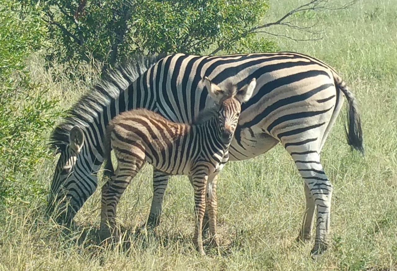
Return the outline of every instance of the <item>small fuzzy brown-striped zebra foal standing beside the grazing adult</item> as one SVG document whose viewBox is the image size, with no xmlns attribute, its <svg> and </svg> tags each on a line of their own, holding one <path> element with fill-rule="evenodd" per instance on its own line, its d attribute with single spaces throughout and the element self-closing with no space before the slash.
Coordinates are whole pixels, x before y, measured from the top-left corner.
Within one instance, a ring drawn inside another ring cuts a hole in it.
<svg viewBox="0 0 397 271">
<path fill-rule="evenodd" d="M 102 236 L 114 231 L 122 193 L 143 164 L 149 162 L 166 174 L 189 176 L 195 193 L 193 241 L 203 255 L 201 228 L 207 206 L 212 244 L 218 246 L 215 177 L 229 158 L 241 103 L 250 99 L 256 80 L 239 90 L 235 85 L 222 90 L 207 77 L 203 81 L 216 106 L 202 111 L 192 124 L 171 122 L 152 111 L 136 109 L 116 116 L 108 125 L 104 139 L 104 176 L 108 181 L 102 187 Z M 112 149 L 118 162 L 116 170 L 110 158 Z"/>
</svg>

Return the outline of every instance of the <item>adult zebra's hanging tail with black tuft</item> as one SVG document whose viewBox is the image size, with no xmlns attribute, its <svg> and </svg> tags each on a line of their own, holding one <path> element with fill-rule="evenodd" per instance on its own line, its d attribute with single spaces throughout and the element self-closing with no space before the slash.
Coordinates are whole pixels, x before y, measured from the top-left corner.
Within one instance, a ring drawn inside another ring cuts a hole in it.
<svg viewBox="0 0 397 271">
<path fill-rule="evenodd" d="M 340 80 L 339 83 L 335 82 L 336 86 L 343 92 L 347 99 L 347 125 L 345 125 L 345 135 L 347 143 L 351 149 L 360 151 L 364 155 L 364 145 L 362 138 L 361 118 L 358 113 L 357 100 L 353 93 L 349 90 L 346 83 Z"/>
</svg>

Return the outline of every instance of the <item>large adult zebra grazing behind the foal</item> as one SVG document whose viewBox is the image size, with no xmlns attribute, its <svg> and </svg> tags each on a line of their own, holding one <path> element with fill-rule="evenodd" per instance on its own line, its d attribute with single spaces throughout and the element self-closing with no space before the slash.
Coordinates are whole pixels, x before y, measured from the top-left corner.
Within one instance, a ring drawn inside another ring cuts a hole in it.
<svg viewBox="0 0 397 271">
<path fill-rule="evenodd" d="M 341 110 L 341 94 L 349 105 L 348 143 L 363 152 L 362 130 L 355 98 L 341 77 L 322 61 L 300 53 L 174 54 L 161 59 L 138 59 L 126 69 L 111 73 L 73 106 L 72 116 L 52 134 L 52 144 L 61 155 L 49 207 L 60 204 L 67 211 L 61 217 L 70 221 L 93 194 L 97 186 L 93 173 L 103 161 L 102 137 L 110 119 L 120 112 L 144 107 L 174 122 L 191 122 L 198 111 L 211 104 L 201 82 L 204 76 L 221 88 L 225 84 L 241 88 L 256 78 L 252 98 L 242 106 L 229 149 L 230 160 L 258 156 L 281 142 L 304 179 L 306 211 L 299 239 L 310 239 L 317 207 L 312 252 L 325 250 L 332 185 L 320 163 L 320 151 Z M 69 147 L 73 140 L 69 131 L 75 125 L 83 129 L 87 139 L 78 154 Z M 158 223 L 168 183 L 168 176 L 162 172 L 154 171 L 153 177 L 149 224 Z"/>
</svg>

